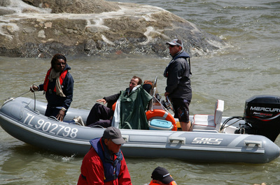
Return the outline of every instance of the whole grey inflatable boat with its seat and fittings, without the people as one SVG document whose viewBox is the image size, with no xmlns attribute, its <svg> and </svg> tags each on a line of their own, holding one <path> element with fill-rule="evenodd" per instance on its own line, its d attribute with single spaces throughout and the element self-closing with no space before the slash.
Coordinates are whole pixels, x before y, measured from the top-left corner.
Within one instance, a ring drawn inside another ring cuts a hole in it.
<svg viewBox="0 0 280 185">
<path fill-rule="evenodd" d="M 120 129 L 126 141 L 121 149 L 126 157 L 267 163 L 278 158 L 280 152 L 280 148 L 274 143 L 276 133 L 279 134 L 279 130 L 275 132 L 279 129 L 279 124 L 278 121 L 271 123 L 279 117 L 280 106 L 279 102 L 267 105 L 267 99 L 275 102 L 280 98 L 258 96 L 247 100 L 248 112 L 243 119 L 222 117 L 223 101 L 218 100 L 213 115 L 195 114 L 190 117 L 193 126 L 192 131 L 188 132 L 174 129 L 176 123 L 166 126 L 172 121 L 168 121 L 164 114 L 156 114 L 156 117 L 149 117 L 150 130 Z M 266 105 L 262 105 L 262 102 Z M 89 141 L 103 135 L 105 128 L 66 122 L 77 116 L 85 121 L 90 110 L 69 108 L 62 122 L 45 117 L 45 108 L 46 103 L 31 98 L 10 98 L 0 109 L 1 127 L 14 138 L 29 145 L 66 155 L 85 155 L 90 149 Z M 155 106 L 150 111 L 156 110 Z M 261 127 L 262 122 L 267 125 L 265 128 Z M 272 129 L 268 130 L 266 127 Z M 274 132 L 272 135 L 271 130 Z"/>
</svg>

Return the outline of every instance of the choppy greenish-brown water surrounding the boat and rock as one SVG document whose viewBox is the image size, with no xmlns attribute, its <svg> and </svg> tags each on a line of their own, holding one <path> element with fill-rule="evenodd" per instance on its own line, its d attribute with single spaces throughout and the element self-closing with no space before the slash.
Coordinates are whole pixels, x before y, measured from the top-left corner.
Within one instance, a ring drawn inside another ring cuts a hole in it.
<svg viewBox="0 0 280 185">
<path fill-rule="evenodd" d="M 214 112 L 217 98 L 225 101 L 224 114 L 242 116 L 247 98 L 279 95 L 280 2 L 279 1 L 140 1 L 159 6 L 220 36 L 232 47 L 192 61 L 193 100 L 190 114 Z M 73 108 L 91 108 L 98 98 L 125 89 L 132 75 L 143 80 L 158 76 L 170 59 L 149 56 L 69 57 L 75 80 Z M 50 59 L 0 57 L 0 103 L 19 96 L 31 84 L 43 82 Z M 32 94 L 25 96 L 33 98 Z M 42 94 L 36 98 L 45 101 Z M 0 184 L 76 184 L 83 158 L 57 156 L 26 145 L 0 128 Z M 280 146 L 279 138 L 276 144 Z M 178 184 L 279 184 L 280 158 L 266 164 L 190 163 L 172 159 L 127 158 L 133 184 L 151 180 L 161 165 Z"/>
</svg>

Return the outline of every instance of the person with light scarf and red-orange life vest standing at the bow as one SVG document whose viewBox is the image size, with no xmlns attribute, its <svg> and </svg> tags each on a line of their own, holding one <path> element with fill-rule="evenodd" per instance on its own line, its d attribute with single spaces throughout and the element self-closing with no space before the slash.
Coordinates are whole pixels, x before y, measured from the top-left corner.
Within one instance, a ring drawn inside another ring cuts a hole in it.
<svg viewBox="0 0 280 185">
<path fill-rule="evenodd" d="M 63 121 L 73 100 L 74 80 L 69 73 L 71 68 L 66 63 L 64 55 L 55 54 L 50 64 L 51 67 L 45 75 L 44 83 L 39 86 L 32 85 L 30 91 L 44 91 L 48 101 L 45 116 L 53 116 Z"/>
</svg>

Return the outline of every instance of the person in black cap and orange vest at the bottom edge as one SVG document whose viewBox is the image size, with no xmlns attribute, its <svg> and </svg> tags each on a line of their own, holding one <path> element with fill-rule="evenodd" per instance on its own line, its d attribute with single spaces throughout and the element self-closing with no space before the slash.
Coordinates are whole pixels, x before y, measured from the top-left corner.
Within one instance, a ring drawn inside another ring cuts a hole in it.
<svg viewBox="0 0 280 185">
<path fill-rule="evenodd" d="M 176 185 L 176 182 L 169 174 L 167 169 L 160 166 L 153 170 L 151 178 L 152 180 L 150 184 L 145 185 Z"/>
</svg>

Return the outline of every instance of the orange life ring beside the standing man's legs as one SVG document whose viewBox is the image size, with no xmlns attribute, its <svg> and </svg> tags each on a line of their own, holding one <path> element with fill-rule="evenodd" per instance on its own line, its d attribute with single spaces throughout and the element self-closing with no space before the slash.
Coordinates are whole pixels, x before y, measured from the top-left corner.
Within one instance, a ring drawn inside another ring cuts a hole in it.
<svg viewBox="0 0 280 185">
<path fill-rule="evenodd" d="M 146 112 L 146 117 L 147 117 L 148 121 L 153 117 L 162 117 L 165 120 L 172 122 L 172 124 L 173 124 L 172 131 L 177 131 L 177 124 L 176 124 L 174 117 L 172 117 L 172 114 L 170 114 L 169 112 L 167 112 L 165 110 L 161 110 L 161 109 L 148 110 Z"/>
</svg>

